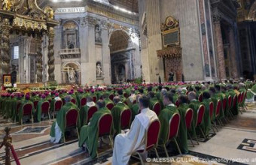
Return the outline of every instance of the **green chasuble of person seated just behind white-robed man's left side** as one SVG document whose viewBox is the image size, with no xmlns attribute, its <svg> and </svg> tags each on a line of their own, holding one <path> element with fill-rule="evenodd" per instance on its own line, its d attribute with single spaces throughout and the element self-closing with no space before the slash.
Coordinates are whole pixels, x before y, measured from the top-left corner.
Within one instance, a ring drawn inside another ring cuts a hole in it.
<svg viewBox="0 0 256 165">
<path fill-rule="evenodd" d="M 129 109 L 129 107 L 126 106 L 126 104 L 123 104 L 122 102 L 119 102 L 111 110 L 111 113 L 113 115 L 114 134 L 121 133 L 120 115 L 121 115 L 123 110 L 127 110 L 127 109 Z"/>
</svg>

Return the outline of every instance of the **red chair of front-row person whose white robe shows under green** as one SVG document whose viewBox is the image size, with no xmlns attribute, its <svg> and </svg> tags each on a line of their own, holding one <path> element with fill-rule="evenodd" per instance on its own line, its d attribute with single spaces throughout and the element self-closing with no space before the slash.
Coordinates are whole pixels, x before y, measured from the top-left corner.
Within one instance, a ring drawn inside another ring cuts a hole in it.
<svg viewBox="0 0 256 165">
<path fill-rule="evenodd" d="M 62 132 L 64 143 L 66 143 L 65 130 L 71 127 L 75 127 L 78 133 L 78 111 L 74 109 L 68 110 L 66 112 L 65 127 L 64 127 L 64 132 Z M 79 133 L 78 133 L 78 139 L 79 139 Z"/>
</svg>

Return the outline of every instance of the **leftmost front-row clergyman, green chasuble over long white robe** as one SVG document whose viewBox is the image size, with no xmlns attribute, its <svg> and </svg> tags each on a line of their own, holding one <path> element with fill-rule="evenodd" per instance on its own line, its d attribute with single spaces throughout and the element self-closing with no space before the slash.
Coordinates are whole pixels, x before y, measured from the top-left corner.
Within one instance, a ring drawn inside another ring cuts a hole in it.
<svg viewBox="0 0 256 165">
<path fill-rule="evenodd" d="M 69 110 L 78 110 L 77 105 L 71 102 L 72 97 L 70 95 L 66 96 L 66 104 L 59 110 L 59 113 L 56 116 L 56 121 L 53 122 L 50 128 L 50 142 L 58 143 L 62 139 L 62 133 L 65 131 L 65 120 L 66 113 Z M 80 123 L 80 118 L 78 116 L 78 125 Z"/>
</svg>

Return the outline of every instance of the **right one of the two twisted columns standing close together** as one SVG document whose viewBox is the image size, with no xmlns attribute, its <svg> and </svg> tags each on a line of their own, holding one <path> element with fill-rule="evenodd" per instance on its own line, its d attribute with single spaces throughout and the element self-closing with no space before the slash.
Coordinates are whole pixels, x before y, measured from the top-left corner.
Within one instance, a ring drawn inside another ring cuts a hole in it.
<svg viewBox="0 0 256 165">
<path fill-rule="evenodd" d="M 53 49 L 53 40 L 54 40 L 54 29 L 52 27 L 49 28 L 48 31 L 48 81 L 55 81 L 54 76 L 54 49 Z"/>
</svg>

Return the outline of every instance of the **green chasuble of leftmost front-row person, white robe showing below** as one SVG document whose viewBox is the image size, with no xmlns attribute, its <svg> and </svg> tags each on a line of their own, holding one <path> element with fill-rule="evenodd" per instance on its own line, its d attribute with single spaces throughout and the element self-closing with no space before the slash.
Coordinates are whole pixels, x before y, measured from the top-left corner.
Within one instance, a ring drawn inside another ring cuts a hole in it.
<svg viewBox="0 0 256 165">
<path fill-rule="evenodd" d="M 72 102 L 66 103 L 61 110 L 59 110 L 59 113 L 56 115 L 56 121 L 53 122 L 51 128 L 50 128 L 50 136 L 55 137 L 55 124 L 57 122 L 59 129 L 62 133 L 65 131 L 65 120 L 66 120 L 66 113 L 69 110 L 77 110 L 78 111 L 78 129 L 80 124 L 80 118 L 79 118 L 79 108 L 77 105 L 73 104 Z M 63 138 L 63 137 L 62 137 Z"/>
</svg>

